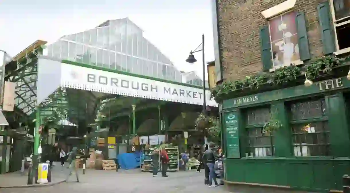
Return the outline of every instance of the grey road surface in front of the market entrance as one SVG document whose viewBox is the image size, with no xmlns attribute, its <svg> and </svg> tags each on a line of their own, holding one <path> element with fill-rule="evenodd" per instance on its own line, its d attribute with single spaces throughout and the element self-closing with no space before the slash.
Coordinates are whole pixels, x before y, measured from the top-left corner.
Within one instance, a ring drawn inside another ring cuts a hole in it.
<svg viewBox="0 0 350 193">
<path fill-rule="evenodd" d="M 140 169 L 128 171 L 86 170 L 79 172 L 80 182 L 72 175 L 68 182 L 45 187 L 5 188 L 1 193 L 228 193 L 223 186 L 209 188 L 204 185 L 204 172 L 168 172 L 169 177 L 152 177 L 152 173 Z"/>
</svg>

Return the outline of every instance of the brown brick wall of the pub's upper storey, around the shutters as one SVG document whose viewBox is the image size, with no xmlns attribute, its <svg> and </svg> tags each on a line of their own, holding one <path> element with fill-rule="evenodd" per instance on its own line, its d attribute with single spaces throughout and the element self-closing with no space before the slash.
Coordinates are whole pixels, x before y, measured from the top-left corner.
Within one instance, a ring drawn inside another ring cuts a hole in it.
<svg viewBox="0 0 350 193">
<path fill-rule="evenodd" d="M 239 80 L 262 69 L 259 28 L 267 24 L 260 12 L 284 0 L 219 0 L 219 38 L 223 76 Z M 322 55 L 317 5 L 324 0 L 297 0 L 296 12 L 304 11 L 312 58 Z"/>
</svg>

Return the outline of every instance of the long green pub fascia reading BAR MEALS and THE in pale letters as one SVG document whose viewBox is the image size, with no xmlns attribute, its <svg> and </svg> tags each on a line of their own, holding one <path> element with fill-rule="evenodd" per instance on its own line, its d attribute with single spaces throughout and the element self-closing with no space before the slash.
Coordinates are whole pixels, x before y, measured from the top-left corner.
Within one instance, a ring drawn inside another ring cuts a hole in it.
<svg viewBox="0 0 350 193">
<path fill-rule="evenodd" d="M 295 87 L 289 87 L 289 88 L 224 100 L 222 106 L 223 106 L 223 109 L 228 109 L 228 108 L 250 106 L 254 104 L 271 102 L 271 101 L 281 100 L 281 99 L 292 100 L 293 98 L 302 97 L 305 95 L 313 95 L 313 94 L 324 93 L 328 91 L 334 91 L 334 90 L 345 89 L 345 88 L 350 88 L 350 81 L 346 79 L 346 76 L 341 78 L 336 78 L 336 79 L 329 79 L 329 80 L 324 80 L 320 82 L 314 82 L 314 84 L 309 87 L 306 87 L 304 85 L 299 85 Z"/>
</svg>

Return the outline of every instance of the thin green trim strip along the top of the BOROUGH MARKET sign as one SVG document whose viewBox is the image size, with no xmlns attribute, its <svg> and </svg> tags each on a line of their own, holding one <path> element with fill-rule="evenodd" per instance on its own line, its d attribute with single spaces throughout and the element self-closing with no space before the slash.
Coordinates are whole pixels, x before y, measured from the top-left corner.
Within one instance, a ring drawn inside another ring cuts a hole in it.
<svg viewBox="0 0 350 193">
<path fill-rule="evenodd" d="M 154 78 L 154 77 L 151 77 L 151 76 L 134 74 L 134 73 L 124 72 L 124 71 L 120 71 L 120 70 L 116 70 L 116 69 L 109 69 L 109 68 L 104 68 L 104 67 L 99 67 L 99 66 L 91 66 L 91 65 L 88 65 L 88 64 L 80 63 L 80 62 L 74 62 L 74 61 L 69 61 L 69 60 L 62 60 L 62 62 L 65 63 L 65 64 L 71 64 L 71 65 L 75 65 L 75 66 L 92 68 L 92 69 L 101 70 L 101 71 L 105 71 L 105 72 L 124 74 L 124 75 L 128 75 L 128 76 L 134 76 L 134 77 L 144 78 L 144 79 L 148 79 L 148 80 L 154 80 L 154 81 L 166 82 L 166 83 L 175 84 L 175 85 L 182 85 L 182 86 L 188 86 L 188 87 L 203 89 L 202 86 L 195 86 L 195 85 L 185 84 L 185 83 L 182 83 L 182 82 L 175 82 L 175 81 L 171 81 L 171 80 L 164 80 L 164 79 L 161 79 L 161 78 Z M 209 88 L 205 88 L 205 89 L 209 90 Z"/>
</svg>

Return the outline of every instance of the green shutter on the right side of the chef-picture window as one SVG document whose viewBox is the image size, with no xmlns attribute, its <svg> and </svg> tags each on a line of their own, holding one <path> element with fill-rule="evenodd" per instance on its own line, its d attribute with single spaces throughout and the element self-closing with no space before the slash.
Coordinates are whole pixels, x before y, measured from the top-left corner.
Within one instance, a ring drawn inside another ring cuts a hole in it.
<svg viewBox="0 0 350 193">
<path fill-rule="evenodd" d="M 296 30 L 298 33 L 298 45 L 300 60 L 308 60 L 311 58 L 309 40 L 307 39 L 307 30 L 305 25 L 305 14 L 304 12 L 296 13 L 295 17 Z"/>
</svg>

